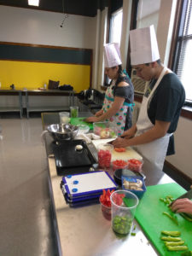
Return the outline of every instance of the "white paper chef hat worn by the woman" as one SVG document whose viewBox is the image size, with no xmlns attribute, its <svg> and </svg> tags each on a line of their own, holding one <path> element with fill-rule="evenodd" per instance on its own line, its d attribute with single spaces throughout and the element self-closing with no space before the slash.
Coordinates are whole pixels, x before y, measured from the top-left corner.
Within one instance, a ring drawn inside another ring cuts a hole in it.
<svg viewBox="0 0 192 256">
<path fill-rule="evenodd" d="M 104 45 L 104 60 L 105 67 L 115 67 L 122 64 L 118 43 L 110 43 Z"/>
</svg>

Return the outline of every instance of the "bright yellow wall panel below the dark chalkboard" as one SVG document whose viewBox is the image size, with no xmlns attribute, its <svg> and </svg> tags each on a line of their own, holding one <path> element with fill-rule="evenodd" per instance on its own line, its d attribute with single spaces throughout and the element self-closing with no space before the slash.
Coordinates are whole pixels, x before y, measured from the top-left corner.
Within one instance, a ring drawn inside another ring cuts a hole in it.
<svg viewBox="0 0 192 256">
<path fill-rule="evenodd" d="M 44 63 L 27 61 L 0 61 L 1 89 L 38 89 L 49 83 L 49 79 L 71 84 L 79 92 L 90 87 L 90 66 L 62 63 Z"/>
</svg>

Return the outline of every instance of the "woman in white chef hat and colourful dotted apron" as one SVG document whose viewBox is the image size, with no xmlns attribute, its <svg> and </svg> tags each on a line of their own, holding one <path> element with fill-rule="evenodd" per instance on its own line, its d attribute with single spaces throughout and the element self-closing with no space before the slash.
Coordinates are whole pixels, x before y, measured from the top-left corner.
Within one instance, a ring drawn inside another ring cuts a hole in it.
<svg viewBox="0 0 192 256">
<path fill-rule="evenodd" d="M 104 53 L 105 73 L 112 81 L 106 90 L 102 109 L 86 121 L 109 121 L 117 136 L 121 136 L 125 129 L 131 127 L 134 89 L 131 80 L 122 71 L 119 45 L 106 44 Z"/>
</svg>

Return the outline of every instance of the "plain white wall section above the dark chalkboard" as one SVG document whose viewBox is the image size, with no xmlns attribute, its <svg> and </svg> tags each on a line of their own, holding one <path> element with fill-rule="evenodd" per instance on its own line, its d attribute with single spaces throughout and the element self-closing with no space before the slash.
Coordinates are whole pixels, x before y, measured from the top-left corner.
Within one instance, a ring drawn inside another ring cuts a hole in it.
<svg viewBox="0 0 192 256">
<path fill-rule="evenodd" d="M 0 41 L 93 49 L 96 18 L 0 6 Z"/>
</svg>

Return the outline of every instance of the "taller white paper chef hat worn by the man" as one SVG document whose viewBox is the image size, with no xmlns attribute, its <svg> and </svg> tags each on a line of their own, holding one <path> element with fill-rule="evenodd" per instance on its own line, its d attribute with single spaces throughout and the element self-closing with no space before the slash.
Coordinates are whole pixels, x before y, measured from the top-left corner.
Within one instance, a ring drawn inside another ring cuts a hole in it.
<svg viewBox="0 0 192 256">
<path fill-rule="evenodd" d="M 131 65 L 150 63 L 160 59 L 154 25 L 131 30 Z"/>
</svg>

